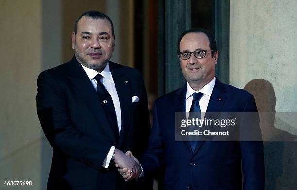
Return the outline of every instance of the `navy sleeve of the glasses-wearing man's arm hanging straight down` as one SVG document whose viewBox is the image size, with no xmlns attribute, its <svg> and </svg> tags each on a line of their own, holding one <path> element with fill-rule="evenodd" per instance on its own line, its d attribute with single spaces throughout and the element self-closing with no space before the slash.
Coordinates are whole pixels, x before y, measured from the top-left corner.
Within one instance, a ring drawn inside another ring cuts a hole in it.
<svg viewBox="0 0 297 190">
<path fill-rule="evenodd" d="M 241 118 L 242 135 L 247 141 L 240 142 L 243 172 L 243 190 L 264 190 L 265 168 L 263 142 L 259 126 L 259 115 L 252 95 L 245 104 Z M 248 125 L 247 125 L 248 124 Z"/>
</svg>

